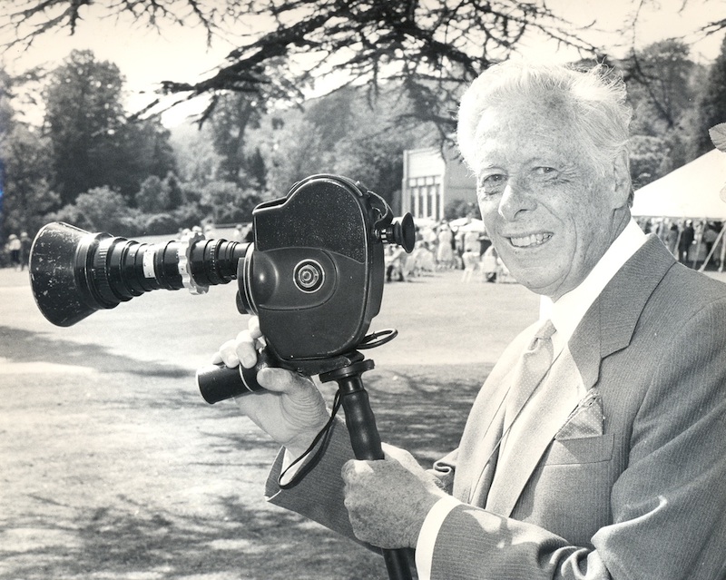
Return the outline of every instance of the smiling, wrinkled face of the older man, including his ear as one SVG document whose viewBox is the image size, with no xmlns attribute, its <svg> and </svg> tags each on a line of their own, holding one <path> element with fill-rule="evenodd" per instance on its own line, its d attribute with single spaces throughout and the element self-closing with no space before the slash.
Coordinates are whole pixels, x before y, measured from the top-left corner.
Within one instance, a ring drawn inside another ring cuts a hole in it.
<svg viewBox="0 0 726 580">
<path fill-rule="evenodd" d="M 553 300 L 584 280 L 629 215 L 627 163 L 598 171 L 585 146 L 558 101 L 490 106 L 476 129 L 486 231 L 515 279 Z"/>
</svg>

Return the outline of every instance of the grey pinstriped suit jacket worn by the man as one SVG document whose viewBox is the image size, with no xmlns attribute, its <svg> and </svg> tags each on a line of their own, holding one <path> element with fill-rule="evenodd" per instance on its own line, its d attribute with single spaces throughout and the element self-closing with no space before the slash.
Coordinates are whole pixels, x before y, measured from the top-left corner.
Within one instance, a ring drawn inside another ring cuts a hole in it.
<svg viewBox="0 0 726 580">
<path fill-rule="evenodd" d="M 726 578 L 726 286 L 651 237 L 544 378 L 540 420 L 495 466 L 507 381 L 533 331 L 505 350 L 435 466 L 465 503 L 439 531 L 432 578 Z M 338 437 L 301 486 L 280 493 L 273 473 L 268 495 L 349 535 L 348 457 Z"/>
</svg>

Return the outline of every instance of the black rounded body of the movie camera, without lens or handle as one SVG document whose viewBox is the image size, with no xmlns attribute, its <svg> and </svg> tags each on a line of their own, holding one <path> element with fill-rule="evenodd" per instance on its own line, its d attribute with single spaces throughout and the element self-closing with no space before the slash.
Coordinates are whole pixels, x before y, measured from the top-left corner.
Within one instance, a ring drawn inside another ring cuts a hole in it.
<svg viewBox="0 0 726 580">
<path fill-rule="evenodd" d="M 260 317 L 277 358 L 334 357 L 365 337 L 383 296 L 379 232 L 390 216 L 381 202 L 345 178 L 312 176 L 253 211 L 239 306 Z"/>
</svg>

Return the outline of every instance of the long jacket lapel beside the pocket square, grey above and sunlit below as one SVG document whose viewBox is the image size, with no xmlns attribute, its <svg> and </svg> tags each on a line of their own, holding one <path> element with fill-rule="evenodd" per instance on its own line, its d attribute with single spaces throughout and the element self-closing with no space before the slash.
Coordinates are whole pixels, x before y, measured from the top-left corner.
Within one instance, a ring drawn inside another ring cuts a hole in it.
<svg viewBox="0 0 726 580">
<path fill-rule="evenodd" d="M 472 491 L 486 498 L 487 509 L 512 513 L 557 431 L 597 383 L 602 359 L 630 343 L 645 303 L 674 262 L 661 241 L 650 236 L 594 301 L 531 400 L 536 420 L 509 434 L 491 487 Z"/>
</svg>

